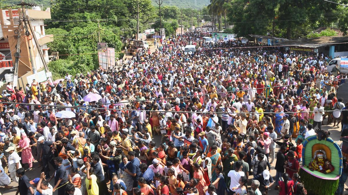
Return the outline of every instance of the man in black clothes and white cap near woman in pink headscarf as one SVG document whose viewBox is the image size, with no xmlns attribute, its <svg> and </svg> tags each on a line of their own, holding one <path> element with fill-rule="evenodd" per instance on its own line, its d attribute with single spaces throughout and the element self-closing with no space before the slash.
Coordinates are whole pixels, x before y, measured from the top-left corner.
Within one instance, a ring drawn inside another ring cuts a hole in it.
<svg viewBox="0 0 348 195">
<path fill-rule="evenodd" d="M 48 179 L 49 178 L 48 163 L 52 164 L 52 166 L 54 168 L 56 168 L 56 165 L 53 161 L 53 153 L 51 152 L 53 142 L 45 141 L 44 136 L 39 137 L 38 142 L 41 144 L 41 153 L 40 153 L 39 161 L 42 162 L 43 169 L 44 169 L 44 172 L 46 175 L 46 179 Z"/>
</svg>

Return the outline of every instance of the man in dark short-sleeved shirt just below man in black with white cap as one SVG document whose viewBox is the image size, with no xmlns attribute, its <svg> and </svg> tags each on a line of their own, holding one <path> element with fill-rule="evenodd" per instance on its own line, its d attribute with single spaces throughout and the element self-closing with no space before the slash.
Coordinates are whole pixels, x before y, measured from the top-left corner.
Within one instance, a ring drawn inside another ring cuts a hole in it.
<svg viewBox="0 0 348 195">
<path fill-rule="evenodd" d="M 54 178 L 54 187 L 53 192 L 58 188 L 58 194 L 65 194 L 65 187 L 62 187 L 68 182 L 68 176 L 66 175 L 65 167 L 62 164 L 63 159 L 62 157 L 58 156 L 54 163 L 56 164 L 57 168 L 56 171 L 53 173 L 51 178 L 48 179 L 48 182 L 50 182 Z"/>
</svg>

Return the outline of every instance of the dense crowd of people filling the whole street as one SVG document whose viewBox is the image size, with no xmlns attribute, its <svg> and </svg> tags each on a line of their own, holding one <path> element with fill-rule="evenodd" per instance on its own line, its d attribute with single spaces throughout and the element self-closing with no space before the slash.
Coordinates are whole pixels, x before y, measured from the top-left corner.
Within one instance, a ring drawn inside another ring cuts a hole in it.
<svg viewBox="0 0 348 195">
<path fill-rule="evenodd" d="M 331 112 L 346 109 L 336 97 L 346 74 L 339 66 L 329 73 L 323 53 L 209 43 L 205 32 L 159 40 L 160 50 L 57 84 L 8 83 L 0 185 L 12 180 L 20 195 L 306 194 L 302 142 L 325 118 L 348 127 L 346 110 Z M 85 101 L 90 93 L 101 99 Z M 64 110 L 76 116 L 57 118 Z"/>
</svg>

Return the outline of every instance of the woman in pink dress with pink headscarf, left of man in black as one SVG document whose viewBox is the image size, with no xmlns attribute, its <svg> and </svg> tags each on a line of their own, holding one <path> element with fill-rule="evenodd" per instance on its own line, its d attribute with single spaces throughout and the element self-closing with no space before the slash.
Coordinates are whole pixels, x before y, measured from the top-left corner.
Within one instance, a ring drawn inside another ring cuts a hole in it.
<svg viewBox="0 0 348 195">
<path fill-rule="evenodd" d="M 31 153 L 30 139 L 26 136 L 25 133 L 21 133 L 21 139 L 19 140 L 17 148 L 21 148 L 18 152 L 22 152 L 22 163 L 29 164 L 27 171 L 32 170 L 34 157 Z"/>
</svg>

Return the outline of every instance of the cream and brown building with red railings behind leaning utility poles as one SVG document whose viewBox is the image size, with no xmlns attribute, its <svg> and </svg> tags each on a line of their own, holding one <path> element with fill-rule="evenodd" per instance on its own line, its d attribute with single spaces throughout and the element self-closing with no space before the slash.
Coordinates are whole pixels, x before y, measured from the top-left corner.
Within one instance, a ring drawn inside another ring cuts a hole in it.
<svg viewBox="0 0 348 195">
<path fill-rule="evenodd" d="M 18 32 L 20 39 L 20 57 L 18 67 L 18 78 L 25 74 L 36 73 L 44 64 L 39 56 L 39 51 L 35 45 L 32 36 L 35 36 L 39 43 L 39 49 L 44 54 L 45 61 L 48 62 L 47 43 L 53 41 L 53 35 L 46 35 L 44 19 L 50 19 L 50 8 L 42 11 L 40 7 L 33 9 L 25 9 L 25 14 L 29 17 L 29 22 L 34 31 L 34 35 L 30 32 L 29 36 L 24 33 L 26 29 L 19 24 L 19 16 L 21 9 L 1 9 L 0 13 L 0 78 L 6 73 L 13 73 L 13 65 L 15 63 L 15 52 L 17 46 Z M 32 56 L 30 56 L 32 53 Z"/>
</svg>

